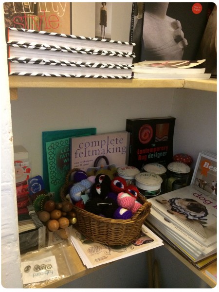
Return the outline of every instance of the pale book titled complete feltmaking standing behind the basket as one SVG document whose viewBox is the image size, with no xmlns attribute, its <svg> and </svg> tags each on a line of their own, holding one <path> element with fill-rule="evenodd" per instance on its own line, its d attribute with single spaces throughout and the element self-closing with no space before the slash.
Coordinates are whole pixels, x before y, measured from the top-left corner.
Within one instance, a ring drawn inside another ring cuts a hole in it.
<svg viewBox="0 0 219 292">
<path fill-rule="evenodd" d="M 73 137 L 71 167 L 87 171 L 88 168 L 97 166 L 94 164 L 99 156 L 106 156 L 109 164 L 115 164 L 117 167 L 127 164 L 129 137 L 127 131 Z"/>
</svg>

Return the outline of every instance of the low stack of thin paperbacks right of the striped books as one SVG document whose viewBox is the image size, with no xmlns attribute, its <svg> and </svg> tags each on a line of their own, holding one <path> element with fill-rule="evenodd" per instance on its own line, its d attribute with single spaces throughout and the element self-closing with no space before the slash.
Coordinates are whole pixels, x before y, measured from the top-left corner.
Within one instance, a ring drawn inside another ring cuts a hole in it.
<svg viewBox="0 0 219 292">
<path fill-rule="evenodd" d="M 142 79 L 209 79 L 211 74 L 205 73 L 204 62 L 205 59 L 197 61 L 142 61 L 134 64 L 133 77 Z"/>
</svg>

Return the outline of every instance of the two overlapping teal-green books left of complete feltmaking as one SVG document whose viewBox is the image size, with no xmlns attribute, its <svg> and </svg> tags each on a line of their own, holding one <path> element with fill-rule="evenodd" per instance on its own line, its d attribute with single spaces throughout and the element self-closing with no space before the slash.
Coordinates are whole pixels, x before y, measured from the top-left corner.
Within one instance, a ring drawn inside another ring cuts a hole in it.
<svg viewBox="0 0 219 292">
<path fill-rule="evenodd" d="M 59 200 L 59 188 L 71 169 L 70 138 L 95 135 L 96 128 L 81 128 L 42 132 L 43 181 L 47 192 L 55 192 Z"/>
</svg>

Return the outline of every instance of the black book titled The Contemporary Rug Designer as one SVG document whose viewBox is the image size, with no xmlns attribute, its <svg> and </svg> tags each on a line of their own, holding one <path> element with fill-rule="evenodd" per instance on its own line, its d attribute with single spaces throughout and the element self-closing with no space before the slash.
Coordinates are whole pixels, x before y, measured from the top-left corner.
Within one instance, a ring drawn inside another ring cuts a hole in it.
<svg viewBox="0 0 219 292">
<path fill-rule="evenodd" d="M 167 166 L 173 157 L 174 117 L 127 119 L 130 132 L 128 165 L 139 170 L 145 164 L 159 163 Z"/>
</svg>

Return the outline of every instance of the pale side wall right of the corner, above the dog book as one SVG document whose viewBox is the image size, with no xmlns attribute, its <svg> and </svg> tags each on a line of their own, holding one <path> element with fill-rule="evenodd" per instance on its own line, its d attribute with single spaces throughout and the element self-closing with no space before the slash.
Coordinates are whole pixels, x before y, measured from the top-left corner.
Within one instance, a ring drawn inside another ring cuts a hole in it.
<svg viewBox="0 0 219 292">
<path fill-rule="evenodd" d="M 194 162 L 199 152 L 217 153 L 217 93 L 177 89 L 171 115 L 175 116 L 174 152 L 187 153 Z"/>
</svg>

